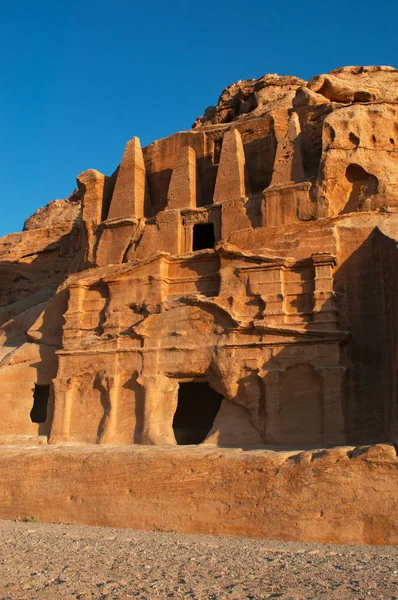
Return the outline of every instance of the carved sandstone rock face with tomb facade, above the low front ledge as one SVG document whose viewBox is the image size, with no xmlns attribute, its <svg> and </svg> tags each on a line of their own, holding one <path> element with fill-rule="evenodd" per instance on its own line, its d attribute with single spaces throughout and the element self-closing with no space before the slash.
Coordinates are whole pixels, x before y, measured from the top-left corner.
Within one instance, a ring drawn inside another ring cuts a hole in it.
<svg viewBox="0 0 398 600">
<path fill-rule="evenodd" d="M 391 67 L 240 81 L 1 239 L 3 439 L 396 441 L 397 98 Z"/>
</svg>

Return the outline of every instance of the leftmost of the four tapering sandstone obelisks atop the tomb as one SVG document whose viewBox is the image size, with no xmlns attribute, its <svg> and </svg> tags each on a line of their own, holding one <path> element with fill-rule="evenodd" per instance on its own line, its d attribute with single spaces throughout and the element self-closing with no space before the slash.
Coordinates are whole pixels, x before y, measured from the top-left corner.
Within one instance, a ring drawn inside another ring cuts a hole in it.
<svg viewBox="0 0 398 600">
<path fill-rule="evenodd" d="M 108 220 L 144 217 L 150 211 L 149 188 L 140 141 L 127 142 L 109 208 Z"/>
</svg>

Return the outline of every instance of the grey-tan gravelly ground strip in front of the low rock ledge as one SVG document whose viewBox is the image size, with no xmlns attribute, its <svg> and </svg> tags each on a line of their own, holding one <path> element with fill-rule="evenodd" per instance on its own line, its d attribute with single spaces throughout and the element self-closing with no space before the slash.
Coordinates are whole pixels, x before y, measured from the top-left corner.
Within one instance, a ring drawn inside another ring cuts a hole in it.
<svg viewBox="0 0 398 600">
<path fill-rule="evenodd" d="M 0 521 L 2 600 L 398 600 L 397 546 Z"/>
</svg>

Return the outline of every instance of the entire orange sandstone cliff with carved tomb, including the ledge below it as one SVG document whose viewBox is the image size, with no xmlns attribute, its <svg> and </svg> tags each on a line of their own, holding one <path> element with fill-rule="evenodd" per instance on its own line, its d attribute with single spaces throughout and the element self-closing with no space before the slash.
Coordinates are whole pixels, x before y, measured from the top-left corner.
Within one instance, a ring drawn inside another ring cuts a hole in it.
<svg viewBox="0 0 398 600">
<path fill-rule="evenodd" d="M 397 543 L 397 148 L 392 67 L 265 75 L 2 238 L 0 515 Z"/>
</svg>

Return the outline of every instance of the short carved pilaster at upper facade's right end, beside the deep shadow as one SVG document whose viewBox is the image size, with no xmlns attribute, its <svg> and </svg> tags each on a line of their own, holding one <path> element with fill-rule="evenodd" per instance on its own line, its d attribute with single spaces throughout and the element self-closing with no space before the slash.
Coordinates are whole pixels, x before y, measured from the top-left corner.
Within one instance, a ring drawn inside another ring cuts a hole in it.
<svg viewBox="0 0 398 600">
<path fill-rule="evenodd" d="M 333 267 L 336 258 L 326 252 L 317 252 L 311 256 L 315 267 L 314 286 L 314 324 L 319 329 L 337 328 L 337 309 L 334 305 Z"/>
</svg>

